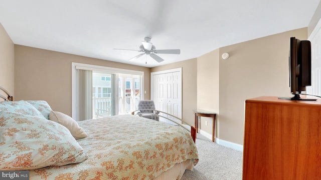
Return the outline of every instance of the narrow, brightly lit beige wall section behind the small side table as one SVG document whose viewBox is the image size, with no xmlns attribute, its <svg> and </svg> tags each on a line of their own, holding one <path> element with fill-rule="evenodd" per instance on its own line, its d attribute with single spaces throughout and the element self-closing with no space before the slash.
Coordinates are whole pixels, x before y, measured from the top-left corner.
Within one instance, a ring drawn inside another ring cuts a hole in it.
<svg viewBox="0 0 321 180">
<path fill-rule="evenodd" d="M 197 108 L 220 113 L 219 109 L 219 49 L 197 58 Z M 212 134 L 212 117 L 200 117 L 200 128 Z M 219 137 L 219 120 L 217 115 L 216 137 Z M 207 121 L 207 125 L 205 123 Z"/>
</svg>

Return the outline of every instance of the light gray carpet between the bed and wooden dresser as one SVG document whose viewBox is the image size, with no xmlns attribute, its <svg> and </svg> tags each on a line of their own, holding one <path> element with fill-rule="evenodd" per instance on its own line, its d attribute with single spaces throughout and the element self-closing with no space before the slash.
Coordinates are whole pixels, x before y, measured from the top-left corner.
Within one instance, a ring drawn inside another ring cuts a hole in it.
<svg viewBox="0 0 321 180">
<path fill-rule="evenodd" d="M 242 179 L 243 152 L 212 142 L 197 134 L 199 162 L 194 170 L 186 170 L 182 180 L 238 180 Z"/>
</svg>

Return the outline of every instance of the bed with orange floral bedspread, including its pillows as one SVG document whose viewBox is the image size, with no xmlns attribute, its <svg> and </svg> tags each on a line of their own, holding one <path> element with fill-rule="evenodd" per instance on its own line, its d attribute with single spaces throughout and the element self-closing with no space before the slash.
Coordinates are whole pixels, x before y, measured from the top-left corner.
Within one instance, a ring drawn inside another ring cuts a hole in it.
<svg viewBox="0 0 321 180">
<path fill-rule="evenodd" d="M 198 163 L 179 125 L 131 114 L 75 122 L 43 100 L 0 102 L 0 132 L 0 170 L 30 179 L 180 179 Z"/>
</svg>

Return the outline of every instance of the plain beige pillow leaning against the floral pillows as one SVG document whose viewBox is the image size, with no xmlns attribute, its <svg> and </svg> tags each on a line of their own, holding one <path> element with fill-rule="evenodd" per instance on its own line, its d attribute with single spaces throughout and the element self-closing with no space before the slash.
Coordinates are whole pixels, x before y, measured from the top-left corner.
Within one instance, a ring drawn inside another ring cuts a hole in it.
<svg viewBox="0 0 321 180">
<path fill-rule="evenodd" d="M 52 110 L 49 114 L 49 120 L 58 122 L 67 127 L 70 133 L 75 137 L 75 139 L 80 139 L 88 136 L 85 130 L 78 125 L 76 120 L 62 112 Z"/>
</svg>

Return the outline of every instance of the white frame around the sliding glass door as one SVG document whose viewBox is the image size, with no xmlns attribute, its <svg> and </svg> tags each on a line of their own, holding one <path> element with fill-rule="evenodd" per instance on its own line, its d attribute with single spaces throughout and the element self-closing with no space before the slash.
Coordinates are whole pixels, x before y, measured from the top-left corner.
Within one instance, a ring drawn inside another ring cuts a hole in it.
<svg viewBox="0 0 321 180">
<path fill-rule="evenodd" d="M 118 73 L 123 74 L 133 74 L 133 75 L 141 75 L 141 84 L 140 89 L 144 91 L 144 71 L 138 70 L 130 70 L 130 69 L 122 69 L 122 68 L 115 68 L 115 67 L 107 67 L 101 65 L 93 65 L 93 64 L 85 64 L 85 63 L 78 63 L 78 62 L 71 62 L 71 116 L 73 118 L 76 117 L 76 69 L 83 69 L 83 70 L 93 70 L 93 71 L 101 71 L 106 73 L 115 74 L 115 94 L 118 96 Z M 141 93 L 141 99 L 144 99 L 144 93 Z M 117 102 L 118 104 L 118 98 Z M 115 105 L 115 111 L 118 112 L 118 105 Z"/>
</svg>

